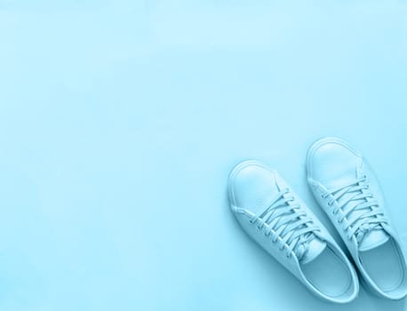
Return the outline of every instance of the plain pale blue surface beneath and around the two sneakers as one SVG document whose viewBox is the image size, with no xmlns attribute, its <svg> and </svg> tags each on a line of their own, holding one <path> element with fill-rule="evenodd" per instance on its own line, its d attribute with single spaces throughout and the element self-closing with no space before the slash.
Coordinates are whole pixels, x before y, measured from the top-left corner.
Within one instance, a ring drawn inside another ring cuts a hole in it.
<svg viewBox="0 0 407 311">
<path fill-rule="evenodd" d="M 227 174 L 306 203 L 335 135 L 407 240 L 405 1 L 0 1 L 2 310 L 406 310 L 324 303 L 238 227 Z M 331 228 L 331 227 L 330 227 Z M 338 235 L 334 235 L 338 237 Z"/>
</svg>

